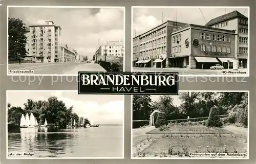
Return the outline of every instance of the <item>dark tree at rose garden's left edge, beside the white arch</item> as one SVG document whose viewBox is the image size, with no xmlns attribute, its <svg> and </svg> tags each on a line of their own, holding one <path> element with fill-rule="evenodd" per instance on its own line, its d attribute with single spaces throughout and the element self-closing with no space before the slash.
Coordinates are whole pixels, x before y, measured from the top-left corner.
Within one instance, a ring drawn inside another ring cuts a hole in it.
<svg viewBox="0 0 256 164">
<path fill-rule="evenodd" d="M 150 95 L 133 95 L 133 120 L 150 120 L 151 102 Z"/>
</svg>

